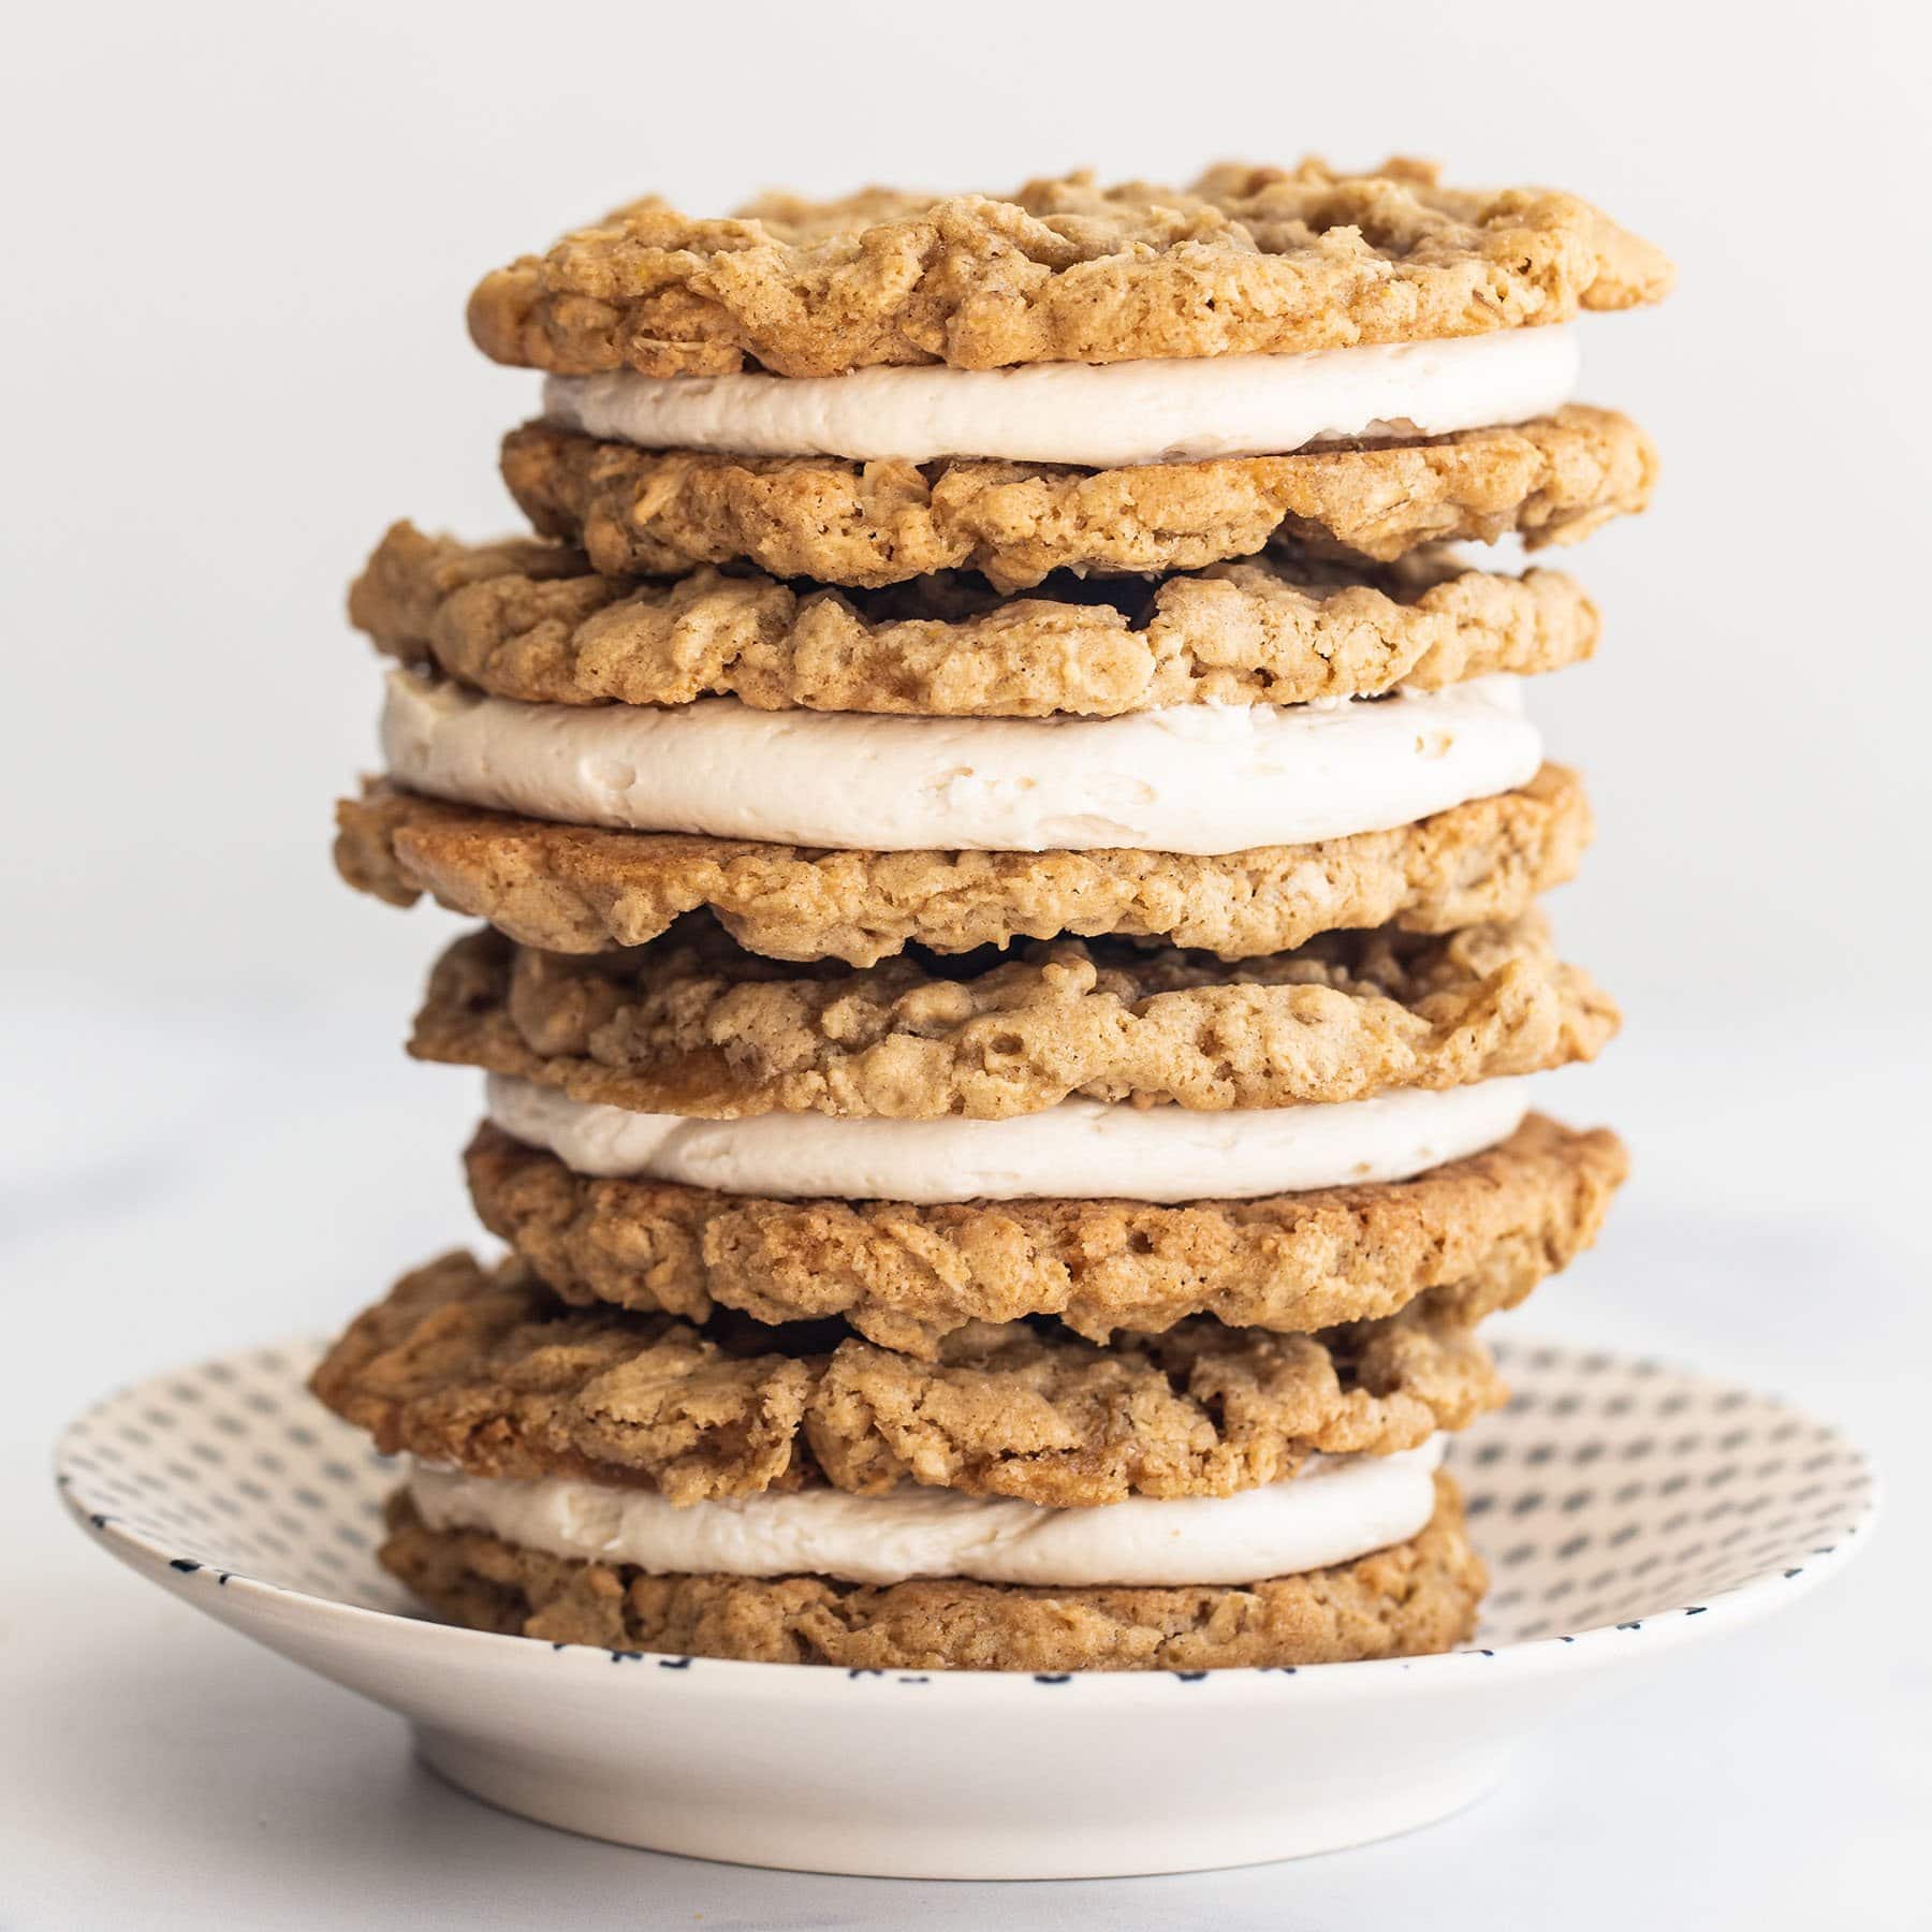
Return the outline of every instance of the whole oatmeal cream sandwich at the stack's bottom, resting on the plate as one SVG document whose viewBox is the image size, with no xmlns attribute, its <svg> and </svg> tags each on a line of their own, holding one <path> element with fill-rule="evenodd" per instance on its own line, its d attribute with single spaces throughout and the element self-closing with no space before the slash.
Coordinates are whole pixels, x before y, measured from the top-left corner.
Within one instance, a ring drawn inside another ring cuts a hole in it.
<svg viewBox="0 0 1932 1932">
<path fill-rule="evenodd" d="M 315 1389 L 410 1453 L 383 1561 L 458 1621 L 1005 1669 L 1447 1648 L 1482 1569 L 1441 1432 L 1503 1395 L 1420 1310 L 1111 1349 L 980 1323 L 914 1362 L 840 1323 L 570 1312 L 466 1256 L 363 1314 Z"/>
</svg>

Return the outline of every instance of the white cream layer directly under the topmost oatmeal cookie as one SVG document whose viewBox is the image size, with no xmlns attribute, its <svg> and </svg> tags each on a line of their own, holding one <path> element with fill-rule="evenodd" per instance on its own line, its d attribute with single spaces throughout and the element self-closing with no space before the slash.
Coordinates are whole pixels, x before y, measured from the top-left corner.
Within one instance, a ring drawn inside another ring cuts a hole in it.
<svg viewBox="0 0 1932 1932">
<path fill-rule="evenodd" d="M 549 421 L 649 450 L 1124 464 L 1273 456 L 1335 437 L 1520 423 L 1577 392 L 1573 328 L 1443 342 L 835 377 L 551 377 Z"/>
</svg>

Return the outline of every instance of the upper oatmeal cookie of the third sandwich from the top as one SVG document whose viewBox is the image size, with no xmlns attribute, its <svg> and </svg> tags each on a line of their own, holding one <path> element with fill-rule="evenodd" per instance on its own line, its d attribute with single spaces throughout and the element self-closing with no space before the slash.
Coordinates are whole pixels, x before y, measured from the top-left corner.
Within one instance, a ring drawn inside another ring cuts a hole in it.
<svg viewBox="0 0 1932 1932">
<path fill-rule="evenodd" d="M 1074 1095 L 1215 1113 L 1441 1092 L 1594 1059 L 1615 1028 L 1534 910 L 1242 962 L 1059 939 L 866 968 L 781 964 L 697 916 L 632 952 L 469 933 L 410 1051 L 634 1113 L 1001 1121 Z"/>
</svg>

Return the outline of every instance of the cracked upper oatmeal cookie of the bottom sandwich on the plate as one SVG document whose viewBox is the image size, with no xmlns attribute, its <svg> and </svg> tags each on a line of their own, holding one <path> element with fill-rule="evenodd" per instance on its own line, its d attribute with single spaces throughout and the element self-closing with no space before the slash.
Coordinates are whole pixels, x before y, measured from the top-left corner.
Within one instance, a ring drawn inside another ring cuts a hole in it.
<svg viewBox="0 0 1932 1932">
<path fill-rule="evenodd" d="M 974 1323 L 920 1362 L 844 1323 L 560 1304 L 520 1262 L 448 1254 L 323 1358 L 313 1391 L 475 1476 L 583 1476 L 674 1503 L 902 1482 L 1051 1507 L 1231 1495 L 1316 1453 L 1389 1455 L 1507 1395 L 1464 1323 L 1405 1310 L 1321 1335 L 1180 1323 L 1101 1349 L 1053 1323 Z"/>
</svg>

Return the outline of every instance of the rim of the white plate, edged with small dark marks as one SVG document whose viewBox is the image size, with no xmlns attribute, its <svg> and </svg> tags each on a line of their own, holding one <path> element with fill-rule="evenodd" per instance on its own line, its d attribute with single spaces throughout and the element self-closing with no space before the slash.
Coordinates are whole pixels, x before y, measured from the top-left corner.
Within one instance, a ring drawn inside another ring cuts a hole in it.
<svg viewBox="0 0 1932 1932">
<path fill-rule="evenodd" d="M 60 1501 L 75 1524 L 100 1542 L 110 1555 L 129 1569 L 151 1575 L 172 1594 L 185 1596 L 193 1588 L 234 1590 L 243 1600 L 261 1598 L 284 1621 L 305 1627 L 348 1621 L 352 1629 L 369 1634 L 386 1634 L 392 1642 L 417 1646 L 489 1646 L 502 1654 L 504 1662 L 522 1658 L 526 1667 L 537 1660 L 551 1660 L 566 1669 L 609 1671 L 612 1663 L 655 1665 L 649 1681 L 665 1683 L 659 1673 L 668 1673 L 676 1683 L 703 1679 L 707 1690 L 738 1692 L 744 1696 L 769 1698 L 781 1694 L 817 1696 L 835 1687 L 918 1687 L 935 1690 L 941 1696 L 983 1696 L 989 1690 L 999 1696 L 1032 1694 L 1036 1689 L 1080 1689 L 1095 1694 L 1094 1687 L 1103 1687 L 1099 1694 L 1115 1702 L 1134 1702 L 1151 1696 L 1171 1694 L 1171 1687 L 1180 1683 L 1190 1690 L 1208 1696 L 1242 1694 L 1252 1696 L 1260 1679 L 1277 1683 L 1293 1679 L 1298 1696 L 1308 1694 L 1349 1694 L 1350 1689 L 1370 1690 L 1379 1685 L 1393 1685 L 1397 1679 L 1422 1681 L 1424 1685 L 1455 1683 L 1453 1673 L 1466 1673 L 1472 1667 L 1501 1669 L 1511 1677 L 1534 1677 L 1569 1663 L 1609 1663 L 1633 1656 L 1638 1648 L 1646 1656 L 1662 1654 L 1687 1642 L 1708 1629 L 1739 1629 L 1770 1613 L 1781 1604 L 1793 1604 L 1808 1596 L 1818 1584 L 1835 1577 L 1851 1559 L 1864 1549 L 1880 1517 L 1884 1484 L 1878 1464 L 1855 1435 L 1839 1428 L 1835 1420 L 1826 1420 L 1801 1408 L 1781 1393 L 1754 1389 L 1743 1381 L 1710 1376 L 1702 1370 L 1683 1368 L 1677 1362 L 1654 1354 L 1629 1354 L 1621 1349 L 1567 1343 L 1546 1339 L 1534 1331 L 1528 1335 L 1495 1337 L 1492 1347 L 1499 1366 L 1509 1368 L 1511 1360 L 1528 1356 L 1553 1356 L 1544 1366 L 1555 1368 L 1561 1362 L 1598 1360 L 1613 1364 L 1642 1378 L 1660 1376 L 1689 1381 L 1714 1395 L 1743 1395 L 1752 1403 L 1766 1403 L 1785 1416 L 1808 1424 L 1832 1435 L 1845 1449 L 1864 1474 L 1864 1492 L 1855 1503 L 1847 1503 L 1847 1522 L 1837 1532 L 1835 1542 L 1808 1551 L 1801 1565 L 1785 1571 L 1766 1569 L 1747 1577 L 1725 1590 L 1710 1592 L 1702 1604 L 1671 1605 L 1646 1617 L 1625 1623 L 1600 1623 L 1582 1631 L 1551 1633 L 1548 1636 L 1519 1638 L 1511 1644 L 1463 1646 L 1420 1658 L 1362 1658 L 1347 1663 L 1300 1663 L 1300 1665 L 1229 1665 L 1202 1671 L 981 1671 L 981 1669 L 931 1669 L 931 1671 L 889 1671 L 852 1669 L 840 1663 L 765 1663 L 742 1658 L 694 1658 L 661 1654 L 647 1650 L 605 1650 L 593 1644 L 545 1642 L 541 1638 L 510 1636 L 498 1631 L 469 1631 L 462 1625 L 442 1623 L 427 1615 L 377 1609 L 367 1604 L 344 1604 L 338 1598 L 317 1596 L 294 1584 L 272 1582 L 265 1577 L 251 1577 L 243 1571 L 220 1571 L 193 1557 L 170 1551 L 149 1532 L 135 1528 L 110 1511 L 85 1507 L 75 1493 L 81 1472 L 68 1466 L 75 1434 L 93 1422 L 102 1410 L 141 1395 L 147 1389 L 178 1381 L 214 1364 L 236 1360 L 255 1360 L 265 1356 L 282 1358 L 294 1366 L 309 1350 L 327 1347 L 327 1339 L 296 1335 L 272 1343 L 230 1349 L 222 1354 L 199 1356 L 176 1368 L 158 1370 L 135 1381 L 122 1383 L 97 1397 L 83 1410 L 71 1416 L 54 1439 L 54 1486 Z M 226 1621 L 226 1619 L 222 1619 Z M 1652 1636 L 1650 1644 L 1638 1646 L 1634 1640 Z M 487 1656 L 489 1648 L 477 1650 Z M 1370 1675 L 1374 1673 L 1374 1675 Z M 782 1689 L 781 1689 L 782 1687 Z M 997 1687 L 997 1690 L 995 1690 Z"/>
</svg>

